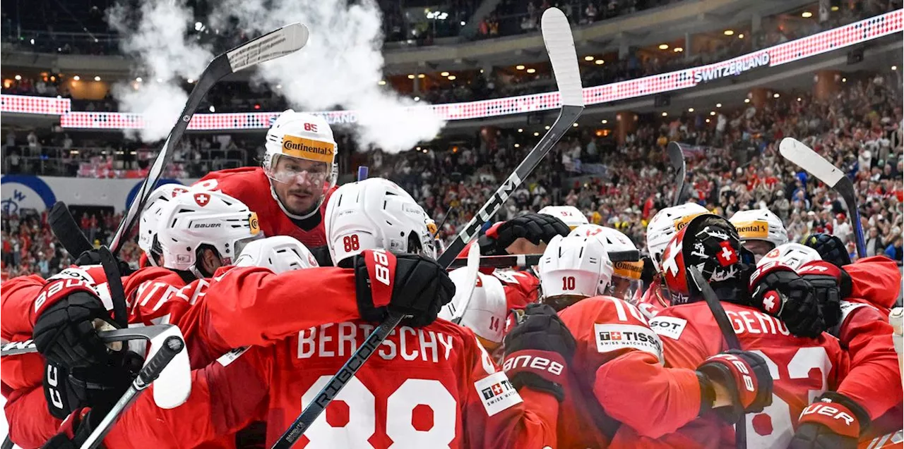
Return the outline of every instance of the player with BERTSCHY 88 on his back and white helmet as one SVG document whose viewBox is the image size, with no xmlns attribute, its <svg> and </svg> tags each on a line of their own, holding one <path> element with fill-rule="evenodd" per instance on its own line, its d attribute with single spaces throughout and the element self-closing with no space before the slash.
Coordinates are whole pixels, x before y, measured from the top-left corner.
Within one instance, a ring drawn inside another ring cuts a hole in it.
<svg viewBox="0 0 904 449">
<path fill-rule="evenodd" d="M 378 245 L 376 248 L 396 251 L 432 252 L 427 215 L 390 181 L 366 179 L 345 185 L 336 190 L 327 211 L 328 242 L 334 260 L 372 280 L 372 300 L 377 304 L 382 302 L 380 298 L 399 289 L 399 281 L 409 279 L 412 283 L 411 278 L 417 278 L 426 288 L 438 277 L 435 271 L 421 269 L 393 278 L 391 272 L 403 268 L 410 256 L 373 249 L 373 245 Z M 229 270 L 222 279 L 230 278 L 237 270 L 244 269 Z M 316 279 L 309 283 L 334 282 L 334 279 L 320 279 L 316 270 L 322 269 L 304 270 L 310 273 L 308 279 Z M 279 277 L 294 273 L 270 274 Z M 265 288 L 283 289 L 284 295 L 288 292 L 277 284 Z M 207 304 L 214 298 L 212 289 L 213 285 L 198 304 Z M 409 293 L 409 296 L 423 295 Z M 335 300 L 328 295 L 311 299 L 319 300 L 322 305 Z M 238 301 L 237 304 L 243 301 L 231 300 Z M 359 303 L 372 304 L 364 298 Z M 318 314 L 320 308 L 328 307 L 299 308 L 303 310 L 298 313 L 289 311 L 291 320 L 286 310 L 280 310 L 270 317 L 268 325 L 258 323 L 257 332 L 273 334 L 271 329 L 288 326 L 289 322 L 309 323 L 297 315 Z M 243 426 L 256 416 L 267 421 L 267 444 L 272 444 L 382 316 L 364 314 L 363 320 L 349 316 L 336 323 L 305 325 L 305 330 L 296 331 L 282 343 L 233 354 L 226 363 L 212 363 L 205 368 L 204 387 L 200 391 L 208 394 L 207 401 L 194 403 L 190 399 L 181 408 L 160 410 L 145 395 L 137 399 L 104 444 L 113 449 L 166 444 L 166 438 L 175 435 L 178 444 L 193 446 L 215 438 L 217 433 L 229 432 L 233 426 Z M 311 447 L 555 445 L 553 426 L 558 411 L 555 396 L 531 386 L 523 387 L 520 392 L 513 389 L 512 382 L 503 372 L 496 371 L 474 334 L 466 328 L 443 320 L 421 328 L 412 326 L 425 324 L 406 320 L 393 331 L 299 444 Z M 227 342 L 235 341 L 229 334 L 219 335 Z M 233 369 L 236 367 L 239 369 Z M 531 373 L 538 369 L 523 371 Z M 258 413 L 259 406 L 266 411 Z M 86 426 L 90 421 L 84 421 Z M 153 426 L 146 424 L 149 422 Z M 79 435 L 80 430 L 84 429 L 76 428 L 72 435 Z"/>
</svg>

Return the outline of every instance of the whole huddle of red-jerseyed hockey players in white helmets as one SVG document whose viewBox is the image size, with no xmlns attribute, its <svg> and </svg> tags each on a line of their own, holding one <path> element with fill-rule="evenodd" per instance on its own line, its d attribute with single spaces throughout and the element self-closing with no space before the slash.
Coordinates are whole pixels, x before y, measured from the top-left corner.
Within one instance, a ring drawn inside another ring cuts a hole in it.
<svg viewBox="0 0 904 449">
<path fill-rule="evenodd" d="M 178 325 L 191 393 L 139 396 L 105 447 L 269 446 L 390 313 L 405 319 L 298 447 L 853 448 L 904 425 L 890 259 L 695 204 L 653 217 L 647 258 L 558 206 L 471 250 L 539 265 L 447 272 L 424 209 L 387 179 L 334 187 L 335 154 L 323 119 L 287 111 L 262 167 L 155 190 L 127 321 Z M 14 444 L 80 447 L 123 394 L 146 348 L 99 338 L 112 303 L 92 252 L 0 284 L 0 339 L 39 351 L 0 358 Z"/>
</svg>

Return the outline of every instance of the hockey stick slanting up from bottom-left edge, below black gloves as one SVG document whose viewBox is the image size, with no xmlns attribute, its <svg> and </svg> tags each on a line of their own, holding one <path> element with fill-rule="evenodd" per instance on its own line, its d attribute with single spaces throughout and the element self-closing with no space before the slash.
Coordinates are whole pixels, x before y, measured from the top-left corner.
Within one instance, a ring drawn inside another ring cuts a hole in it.
<svg viewBox="0 0 904 449">
<path fill-rule="evenodd" d="M 178 330 L 178 327 L 173 327 Z M 126 393 L 123 394 L 113 408 L 110 409 L 107 416 L 100 421 L 98 427 L 91 432 L 91 435 L 88 435 L 88 439 L 85 440 L 85 443 L 81 444 L 81 449 L 94 449 L 100 445 L 104 436 L 107 436 L 110 429 L 113 427 L 113 424 L 116 423 L 119 415 L 121 415 L 122 412 L 138 398 L 138 393 L 157 380 L 157 378 L 160 377 L 161 372 L 165 371 L 166 365 L 172 362 L 177 354 L 184 353 L 185 341 L 181 336 L 168 335 L 165 337 L 163 344 L 159 344 L 158 346 L 159 350 L 148 358 L 148 362 L 146 362 L 145 366 L 138 372 L 138 377 L 132 381 L 132 385 L 128 387 Z M 189 383 L 191 383 L 191 378 L 189 378 Z"/>
</svg>

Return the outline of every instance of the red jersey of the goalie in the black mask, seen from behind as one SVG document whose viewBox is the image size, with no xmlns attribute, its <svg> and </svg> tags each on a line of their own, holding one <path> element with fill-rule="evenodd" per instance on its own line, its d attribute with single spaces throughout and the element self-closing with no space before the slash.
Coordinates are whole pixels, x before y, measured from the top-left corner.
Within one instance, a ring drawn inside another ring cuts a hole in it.
<svg viewBox="0 0 904 449">
<path fill-rule="evenodd" d="M 723 302 L 741 348 L 756 351 L 766 359 L 774 380 L 772 405 L 747 416 L 750 447 L 786 447 L 794 435 L 801 411 L 827 389 L 835 389 L 848 370 L 847 355 L 838 340 L 829 334 L 819 338 L 798 338 L 773 316 L 751 307 Z M 705 302 L 669 307 L 650 326 L 663 339 L 667 366 L 694 369 L 711 355 L 726 349 L 719 326 Z M 646 394 L 625 385 L 623 400 Z M 623 427 L 619 430 L 630 433 Z M 720 435 L 720 438 L 713 438 Z M 653 441 L 638 435 L 623 435 L 626 447 L 734 447 L 734 431 L 718 417 L 707 415 L 693 420 L 677 432 Z"/>
</svg>

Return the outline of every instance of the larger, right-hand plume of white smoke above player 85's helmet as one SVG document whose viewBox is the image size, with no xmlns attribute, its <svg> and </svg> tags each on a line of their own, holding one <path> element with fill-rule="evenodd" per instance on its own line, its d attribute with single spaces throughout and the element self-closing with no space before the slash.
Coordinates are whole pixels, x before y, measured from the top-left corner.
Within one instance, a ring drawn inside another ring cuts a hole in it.
<svg viewBox="0 0 904 449">
<path fill-rule="evenodd" d="M 223 0 L 211 20 L 225 26 L 229 16 L 241 28 L 270 32 L 288 23 L 304 23 L 311 32 L 304 49 L 272 60 L 256 77 L 281 85 L 297 110 L 354 110 L 353 131 L 362 146 L 408 150 L 433 139 L 445 124 L 423 103 L 402 97 L 377 83 L 382 78 L 381 13 L 374 0 Z"/>
</svg>

